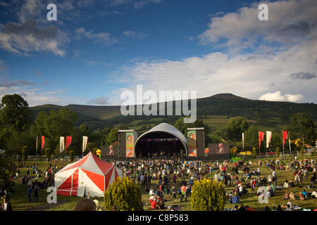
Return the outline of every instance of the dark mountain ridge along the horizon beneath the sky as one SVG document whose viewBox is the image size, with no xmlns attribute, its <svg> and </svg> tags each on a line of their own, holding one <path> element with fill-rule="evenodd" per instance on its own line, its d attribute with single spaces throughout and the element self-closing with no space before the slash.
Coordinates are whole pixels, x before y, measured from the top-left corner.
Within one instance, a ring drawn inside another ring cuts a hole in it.
<svg viewBox="0 0 317 225">
<path fill-rule="evenodd" d="M 189 101 L 190 103 L 190 101 Z M 163 118 L 162 122 L 173 122 L 180 116 L 123 116 L 120 105 L 37 105 L 30 107 L 34 117 L 40 111 L 49 113 L 50 110 L 66 108 L 78 114 L 78 123 L 94 124 L 97 127 L 112 126 L 114 124 L 129 124 L 132 120 L 151 120 L 151 118 Z M 197 117 L 208 119 L 213 115 L 234 117 L 243 116 L 248 120 L 254 120 L 259 124 L 274 123 L 287 124 L 294 113 L 307 113 L 311 119 L 317 121 L 317 105 L 314 103 L 290 103 L 275 101 L 250 100 L 223 93 L 197 99 Z M 273 120 L 274 118 L 274 120 Z"/>
</svg>

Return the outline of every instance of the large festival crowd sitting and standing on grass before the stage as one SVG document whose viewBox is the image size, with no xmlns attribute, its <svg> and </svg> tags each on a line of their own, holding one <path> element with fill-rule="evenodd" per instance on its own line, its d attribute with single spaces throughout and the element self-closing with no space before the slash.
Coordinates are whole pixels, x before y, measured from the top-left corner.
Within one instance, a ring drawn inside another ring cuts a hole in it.
<svg viewBox="0 0 317 225">
<path fill-rule="evenodd" d="M 284 210 L 287 208 L 292 210 L 294 205 L 291 203 L 294 200 L 317 198 L 317 193 L 313 189 L 316 187 L 317 158 L 311 160 L 292 158 L 289 162 L 279 158 L 257 160 L 255 166 L 252 166 L 251 160 L 203 163 L 199 160 L 187 161 L 175 158 L 138 158 L 116 162 L 116 166 L 122 170 L 123 176 L 128 176 L 129 179 L 135 181 L 135 184 L 142 186 L 143 191 L 149 193 L 151 209 L 168 208 L 166 206 L 168 196 L 170 199 L 178 198 L 180 203 L 187 201 L 187 195 L 191 193 L 194 180 L 199 181 L 207 178 L 208 175 L 209 179 L 213 177 L 215 181 L 222 182 L 224 186 L 232 188 L 232 191 L 227 192 L 227 203 L 235 205 L 235 207 L 230 210 L 239 210 L 240 208 L 247 211 L 253 210 L 248 205 L 237 207 L 243 195 L 249 191 L 263 198 L 270 198 L 275 195 L 275 191 L 285 190 L 283 199 L 287 200 L 287 204 L 282 205 Z M 24 171 L 26 169 L 26 174 L 20 174 L 20 168 L 24 168 Z M 54 186 L 54 174 L 62 168 L 56 166 L 56 160 L 54 160 L 54 164 L 50 163 L 43 172 L 38 169 L 37 162 L 33 162 L 32 165 L 25 165 L 25 162 L 18 162 L 18 165 L 13 164 L 11 184 L 6 188 L 0 188 L 0 195 L 3 196 L 1 199 L 4 200 L 1 209 L 12 209 L 9 197 L 14 193 L 16 179 L 25 185 L 27 200 L 32 203 L 38 201 L 40 189 Z M 269 174 L 266 170 L 264 174 L 268 175 L 264 176 L 263 169 L 268 169 Z M 278 180 L 280 170 L 292 172 L 294 181 L 292 179 Z M 41 179 L 42 182 L 37 181 L 41 176 L 44 176 L 44 179 Z M 309 185 L 305 186 L 308 184 L 307 180 L 309 180 Z M 297 195 L 292 191 L 287 191 L 288 188 L 295 186 L 302 187 L 302 191 Z M 313 191 L 307 191 L 311 188 Z M 276 210 L 279 208 L 280 206 Z"/>
</svg>

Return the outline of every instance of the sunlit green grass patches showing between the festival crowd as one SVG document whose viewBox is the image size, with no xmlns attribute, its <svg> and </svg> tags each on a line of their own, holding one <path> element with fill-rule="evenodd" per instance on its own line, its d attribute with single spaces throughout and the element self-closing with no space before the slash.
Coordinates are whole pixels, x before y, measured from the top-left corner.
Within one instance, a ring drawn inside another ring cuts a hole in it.
<svg viewBox="0 0 317 225">
<path fill-rule="evenodd" d="M 300 158 L 299 158 L 300 159 Z M 287 159 L 285 159 L 287 160 Z M 256 161 L 251 160 L 252 165 L 251 169 L 256 169 Z M 29 167 L 32 167 L 32 163 L 35 161 L 27 161 L 26 165 Z M 49 162 L 45 161 L 37 161 L 38 162 L 38 167 L 41 169 L 42 172 L 45 171 L 45 169 L 49 166 Z M 66 162 L 57 162 L 58 167 L 61 167 L 62 165 L 66 165 Z M 232 165 L 230 165 L 230 168 Z M 20 176 L 18 179 L 15 179 L 15 192 L 11 195 L 10 201 L 11 204 L 13 205 L 13 210 L 14 211 L 44 211 L 44 210 L 52 210 L 52 211 L 73 211 L 75 210 L 75 205 L 77 204 L 78 200 L 82 199 L 80 197 L 66 197 L 66 196 L 57 196 L 57 204 L 48 204 L 46 201 L 47 195 L 49 193 L 46 192 L 46 190 L 41 189 L 39 191 L 39 201 L 38 203 L 28 203 L 28 198 L 27 198 L 27 188 L 25 185 L 22 185 L 22 181 L 20 181 L 20 177 L 25 175 L 27 171 L 27 168 L 20 168 Z M 30 169 L 30 174 L 32 175 L 32 168 Z M 268 174 L 270 174 L 271 171 L 269 169 L 266 169 L 266 167 L 261 167 L 261 176 L 267 177 Z M 208 177 L 209 179 L 213 179 L 214 172 L 209 174 Z M 310 185 L 310 175 L 308 176 L 307 179 L 304 179 L 304 186 Z M 278 183 L 277 186 L 282 186 L 284 184 L 284 181 L 287 180 L 293 180 L 294 181 L 294 176 L 292 172 L 286 171 L 286 170 L 278 170 L 277 171 L 277 176 L 278 176 Z M 43 181 L 44 177 L 40 177 L 38 181 Z M 187 180 L 189 177 L 187 177 Z M 243 184 L 243 183 L 242 183 Z M 171 184 L 168 186 L 170 188 Z M 151 182 L 151 187 L 156 190 L 156 181 Z M 180 181 L 176 184 L 176 188 L 180 187 Z M 232 187 L 227 187 L 225 186 L 225 191 L 232 191 Z M 256 188 L 257 190 L 257 188 Z M 266 205 L 270 209 L 273 209 L 273 207 L 277 207 L 278 205 L 285 205 L 287 203 L 286 200 L 283 200 L 282 197 L 285 193 L 284 190 L 280 191 L 275 191 L 275 196 L 268 198 L 268 203 L 259 203 L 258 200 L 258 195 L 256 195 L 254 192 L 251 192 L 251 188 L 247 188 L 248 193 L 242 195 L 242 198 L 240 198 L 240 203 L 238 205 L 244 204 L 244 205 L 249 205 L 252 207 L 254 210 L 263 210 Z M 299 191 L 302 191 L 301 187 L 294 187 L 294 188 L 287 188 L 287 191 L 290 193 L 291 191 L 294 192 L 297 196 L 299 195 Z M 308 188 L 307 192 L 311 192 L 312 189 Z M 150 211 L 149 210 L 149 194 L 142 190 L 142 201 L 143 203 L 147 203 L 147 205 L 144 205 L 144 210 L 145 211 Z M 190 205 L 190 200 L 191 196 L 190 194 L 187 196 L 187 202 L 182 202 L 180 203 L 180 195 L 177 196 L 176 200 L 171 200 L 171 195 L 166 195 L 166 205 L 177 205 L 181 207 L 180 211 L 191 211 L 191 205 Z M 104 199 L 99 198 L 101 205 L 103 205 Z M 317 207 L 317 198 L 309 198 L 308 200 L 300 201 L 300 200 L 294 200 L 293 201 L 294 205 L 298 205 L 302 209 L 315 209 Z M 232 204 L 226 204 L 225 208 L 231 209 L 235 205 Z"/>
</svg>

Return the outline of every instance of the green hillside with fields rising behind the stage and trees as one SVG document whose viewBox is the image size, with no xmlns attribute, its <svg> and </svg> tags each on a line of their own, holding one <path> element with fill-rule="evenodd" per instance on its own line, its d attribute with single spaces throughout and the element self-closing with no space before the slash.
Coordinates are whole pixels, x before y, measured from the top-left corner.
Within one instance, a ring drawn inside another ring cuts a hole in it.
<svg viewBox="0 0 317 225">
<path fill-rule="evenodd" d="M 60 108 L 75 111 L 78 114 L 77 124 L 85 123 L 92 130 L 126 125 L 130 129 L 143 132 L 161 122 L 173 124 L 180 118 L 167 115 L 123 116 L 120 113 L 120 105 L 38 105 L 30 109 L 37 115 L 42 110 L 49 113 L 50 110 Z M 317 105 L 313 103 L 258 101 L 233 94 L 216 94 L 197 99 L 197 117 L 208 124 L 211 131 L 225 128 L 229 118 L 235 116 L 245 117 L 250 124 L 255 124 L 259 129 L 284 129 L 289 124 L 290 117 L 298 112 L 307 113 L 315 123 L 317 122 Z"/>
</svg>

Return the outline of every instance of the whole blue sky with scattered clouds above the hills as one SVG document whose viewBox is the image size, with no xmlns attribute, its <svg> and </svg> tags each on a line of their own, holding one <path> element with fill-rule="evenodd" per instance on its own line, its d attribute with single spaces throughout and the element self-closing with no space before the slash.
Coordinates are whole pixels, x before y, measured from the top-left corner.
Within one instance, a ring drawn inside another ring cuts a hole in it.
<svg viewBox="0 0 317 225">
<path fill-rule="evenodd" d="M 48 4 L 57 20 L 48 21 Z M 260 21 L 259 4 L 268 6 Z M 317 103 L 317 1 L 0 0 L 0 97 L 120 105 L 124 90 Z"/>
</svg>

